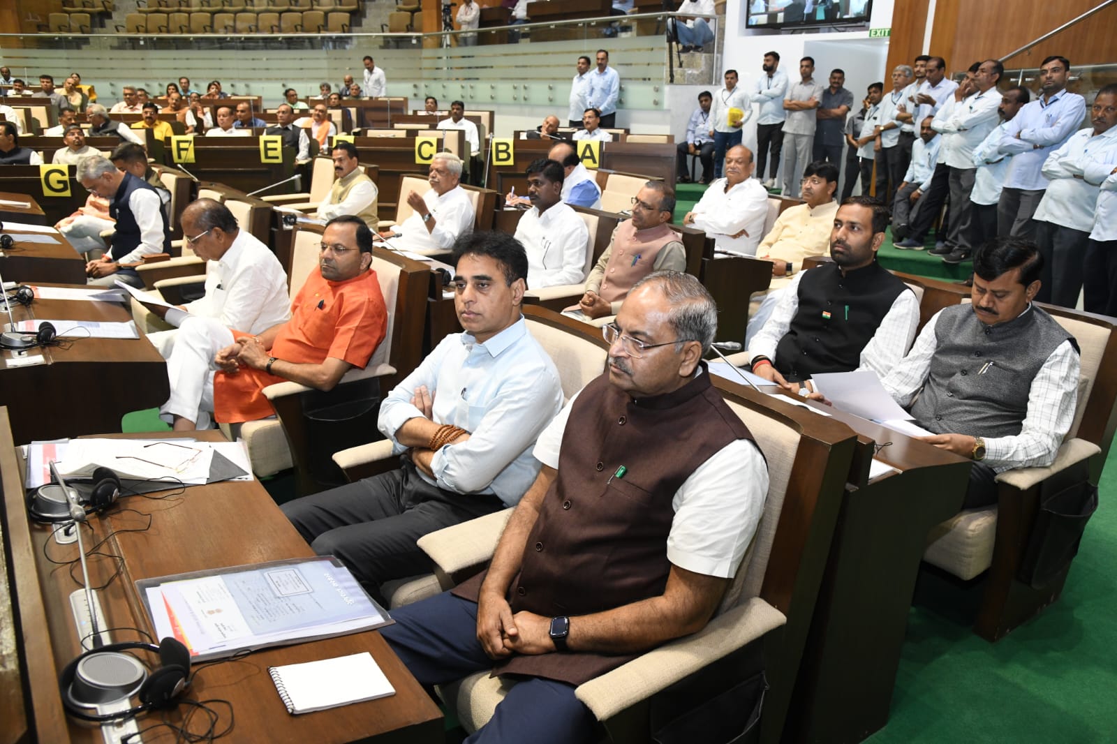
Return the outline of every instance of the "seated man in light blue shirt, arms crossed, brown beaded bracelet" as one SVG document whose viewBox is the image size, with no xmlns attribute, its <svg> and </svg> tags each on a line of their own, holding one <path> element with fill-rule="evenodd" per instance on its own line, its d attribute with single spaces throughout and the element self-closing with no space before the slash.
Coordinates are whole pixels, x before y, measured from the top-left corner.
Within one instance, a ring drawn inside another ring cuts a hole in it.
<svg viewBox="0 0 1117 744">
<path fill-rule="evenodd" d="M 381 584 L 430 571 L 416 541 L 514 506 L 540 471 L 532 447 L 562 408 L 551 357 L 521 315 L 527 256 L 502 232 L 454 246 L 448 335 L 380 407 L 402 467 L 284 504 L 319 555 L 336 555 L 383 602 Z"/>
</svg>

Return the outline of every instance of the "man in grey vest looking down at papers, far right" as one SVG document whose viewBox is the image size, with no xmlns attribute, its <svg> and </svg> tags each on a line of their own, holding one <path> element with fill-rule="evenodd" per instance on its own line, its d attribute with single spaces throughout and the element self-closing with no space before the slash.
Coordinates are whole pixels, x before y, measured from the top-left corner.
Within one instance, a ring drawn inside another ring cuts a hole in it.
<svg viewBox="0 0 1117 744">
<path fill-rule="evenodd" d="M 995 503 L 999 473 L 1050 465 L 1075 418 L 1078 344 L 1032 303 L 1042 268 L 1022 238 L 978 248 L 972 304 L 936 313 L 881 380 L 920 439 L 975 460 L 963 508 Z"/>
</svg>

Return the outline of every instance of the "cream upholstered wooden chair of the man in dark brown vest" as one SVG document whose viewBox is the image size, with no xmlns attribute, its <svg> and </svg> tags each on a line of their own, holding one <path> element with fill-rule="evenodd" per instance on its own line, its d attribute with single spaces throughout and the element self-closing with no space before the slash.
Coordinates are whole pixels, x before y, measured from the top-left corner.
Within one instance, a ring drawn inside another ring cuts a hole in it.
<svg viewBox="0 0 1117 744">
<path fill-rule="evenodd" d="M 703 630 L 575 689 L 604 724 L 609 741 L 646 742 L 653 716 L 663 719 L 665 707 L 679 706 L 679 699 L 705 702 L 731 694 L 744 680 L 762 675 L 765 665 L 772 690 L 764 700 L 764 725 L 772 726 L 776 741 L 794 687 L 853 436 L 843 425 L 834 428 L 836 422 L 812 413 L 792 412 L 790 406 L 754 391 L 720 380 L 716 384 L 726 391 L 729 408 L 748 426 L 767 460 L 764 512 L 717 613 Z M 818 448 L 820 439 L 828 442 L 824 451 Z M 785 511 L 784 505 L 791 508 Z M 440 530 L 421 537 L 419 545 L 439 566 L 439 575 L 469 575 L 491 556 L 500 528 L 495 522 Z M 762 646 L 763 660 L 757 661 Z M 483 671 L 440 686 L 439 694 L 461 725 L 474 732 L 488 722 L 514 684 Z M 680 686 L 687 693 L 680 693 Z"/>
</svg>

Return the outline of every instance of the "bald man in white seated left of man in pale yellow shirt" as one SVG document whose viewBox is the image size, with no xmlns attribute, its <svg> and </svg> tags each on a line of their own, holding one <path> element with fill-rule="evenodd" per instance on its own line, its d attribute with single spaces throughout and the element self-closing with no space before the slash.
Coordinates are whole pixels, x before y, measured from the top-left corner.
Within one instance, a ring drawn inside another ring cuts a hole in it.
<svg viewBox="0 0 1117 744">
<path fill-rule="evenodd" d="M 725 153 L 725 177 L 714 179 L 682 223 L 705 230 L 723 254 L 755 256 L 767 218 L 767 189 L 753 178 L 753 153 L 734 145 Z"/>
</svg>

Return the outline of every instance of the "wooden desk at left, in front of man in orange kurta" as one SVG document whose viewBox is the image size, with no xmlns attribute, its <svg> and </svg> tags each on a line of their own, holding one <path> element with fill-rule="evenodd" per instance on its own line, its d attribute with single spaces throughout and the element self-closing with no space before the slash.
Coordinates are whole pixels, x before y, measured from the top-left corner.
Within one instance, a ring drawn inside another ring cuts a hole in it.
<svg viewBox="0 0 1117 744">
<path fill-rule="evenodd" d="M 85 286 L 85 285 L 82 285 Z M 125 322 L 124 305 L 36 299 L 12 307 L 16 321 Z M 7 406 L 16 443 L 118 431 L 128 411 L 161 406 L 170 394 L 166 364 L 143 335 L 140 338 L 73 338 L 36 350 L 45 364 L 11 366 L 12 352 L 0 352 L 0 406 Z"/>
</svg>

